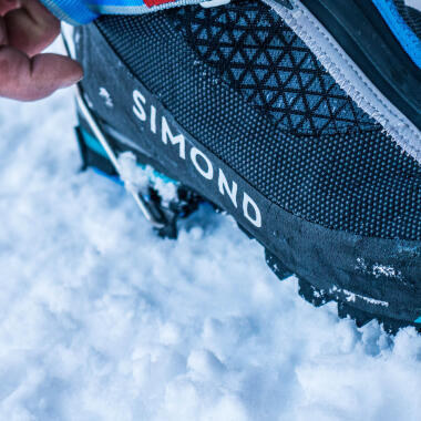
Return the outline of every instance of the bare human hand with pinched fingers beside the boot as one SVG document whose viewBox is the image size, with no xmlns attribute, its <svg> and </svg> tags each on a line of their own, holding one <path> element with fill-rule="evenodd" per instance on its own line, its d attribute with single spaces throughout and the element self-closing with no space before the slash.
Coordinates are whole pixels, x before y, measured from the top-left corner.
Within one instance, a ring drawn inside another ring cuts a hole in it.
<svg viewBox="0 0 421 421">
<path fill-rule="evenodd" d="M 38 0 L 0 0 L 0 96 L 34 101 L 83 76 L 68 57 L 41 52 L 60 34 L 60 21 Z"/>
</svg>

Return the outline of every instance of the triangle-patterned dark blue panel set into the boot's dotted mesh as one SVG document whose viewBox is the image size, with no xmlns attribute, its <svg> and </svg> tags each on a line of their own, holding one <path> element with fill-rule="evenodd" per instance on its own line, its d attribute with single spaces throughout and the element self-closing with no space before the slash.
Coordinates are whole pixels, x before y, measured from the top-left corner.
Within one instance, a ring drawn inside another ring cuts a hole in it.
<svg viewBox="0 0 421 421">
<path fill-rule="evenodd" d="M 172 16 L 199 59 L 277 124 L 315 134 L 374 125 L 280 17 L 259 2 L 179 8 Z"/>
</svg>

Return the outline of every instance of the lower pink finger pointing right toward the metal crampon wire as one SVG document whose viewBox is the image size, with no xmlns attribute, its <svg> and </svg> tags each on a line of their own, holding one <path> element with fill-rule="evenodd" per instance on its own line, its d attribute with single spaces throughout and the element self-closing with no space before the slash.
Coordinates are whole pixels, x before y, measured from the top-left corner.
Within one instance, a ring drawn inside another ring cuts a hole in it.
<svg viewBox="0 0 421 421">
<path fill-rule="evenodd" d="M 0 49 L 0 96 L 35 101 L 82 76 L 81 65 L 68 57 L 39 54 L 30 59 L 11 47 Z"/>
</svg>

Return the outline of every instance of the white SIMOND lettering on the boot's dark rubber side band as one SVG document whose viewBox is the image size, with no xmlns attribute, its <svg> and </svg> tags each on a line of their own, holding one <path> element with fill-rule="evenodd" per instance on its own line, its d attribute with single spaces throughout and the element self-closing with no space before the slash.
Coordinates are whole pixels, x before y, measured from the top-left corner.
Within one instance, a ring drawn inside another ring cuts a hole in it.
<svg viewBox="0 0 421 421">
<path fill-rule="evenodd" d="M 235 181 L 229 183 L 223 170 L 216 168 L 205 153 L 197 147 L 189 145 L 182 133 L 174 134 L 168 125 L 167 119 L 164 115 L 158 119 L 156 107 L 152 104 L 151 106 L 147 106 L 146 97 L 140 91 L 133 91 L 133 101 L 134 115 L 143 123 L 147 123 L 148 120 L 150 131 L 153 134 L 161 135 L 163 144 L 177 146 L 181 160 L 192 164 L 202 177 L 217 183 L 219 194 L 223 196 L 226 194 L 235 208 L 242 206 L 244 217 L 255 227 L 261 227 L 261 213 L 259 207 L 246 192 L 243 192 L 243 195 L 239 195 L 238 185 Z M 150 110 L 148 115 L 146 114 L 146 109 Z M 187 146 L 191 146 L 189 151 L 187 151 Z M 238 203 L 238 196 L 240 198 L 240 204 Z"/>
</svg>

